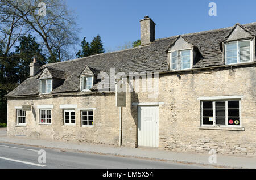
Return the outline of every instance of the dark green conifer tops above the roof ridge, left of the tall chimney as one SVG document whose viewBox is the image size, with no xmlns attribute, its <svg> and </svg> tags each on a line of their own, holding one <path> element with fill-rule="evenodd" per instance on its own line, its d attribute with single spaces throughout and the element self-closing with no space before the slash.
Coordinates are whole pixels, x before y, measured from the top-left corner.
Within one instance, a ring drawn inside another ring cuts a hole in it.
<svg viewBox="0 0 256 180">
<path fill-rule="evenodd" d="M 101 36 L 97 35 L 96 37 L 93 38 L 92 42 L 87 42 L 86 37 L 81 42 L 81 50 L 77 52 L 77 57 L 82 58 L 82 57 L 88 57 L 90 55 L 95 55 L 95 54 L 100 54 L 104 53 L 105 50 L 103 48 L 103 44 L 101 41 Z"/>
</svg>

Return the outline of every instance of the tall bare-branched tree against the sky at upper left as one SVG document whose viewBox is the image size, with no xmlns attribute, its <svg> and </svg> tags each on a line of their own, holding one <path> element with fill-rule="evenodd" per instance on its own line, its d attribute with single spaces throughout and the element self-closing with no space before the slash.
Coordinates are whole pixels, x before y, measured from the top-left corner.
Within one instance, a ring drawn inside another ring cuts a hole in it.
<svg viewBox="0 0 256 180">
<path fill-rule="evenodd" d="M 44 7 L 39 3 L 39 0 L 0 0 L 0 11 L 15 17 L 40 37 L 48 52 L 48 62 L 66 60 L 70 57 L 70 45 L 78 41 L 76 17 L 63 0 L 45 0 L 45 16 L 40 14 Z"/>
</svg>

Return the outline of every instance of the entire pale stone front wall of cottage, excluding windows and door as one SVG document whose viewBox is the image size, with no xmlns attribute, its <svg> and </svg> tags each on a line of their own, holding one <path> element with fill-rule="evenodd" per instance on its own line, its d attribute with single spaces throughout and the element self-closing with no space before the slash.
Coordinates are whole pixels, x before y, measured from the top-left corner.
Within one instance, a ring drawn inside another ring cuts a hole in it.
<svg viewBox="0 0 256 180">
<path fill-rule="evenodd" d="M 163 102 L 159 105 L 159 149 L 203 153 L 214 149 L 217 153 L 256 156 L 255 85 L 254 66 L 160 74 L 157 98 L 148 98 L 149 92 L 126 94 L 122 145 L 137 147 L 137 106 L 132 103 Z M 243 96 L 241 121 L 245 130 L 201 129 L 197 98 L 206 96 Z M 22 104 L 31 104 L 31 98 L 8 100 L 9 136 L 119 144 L 119 108 L 115 107 L 114 93 L 34 98 L 35 112 L 27 112 L 27 126 L 17 127 L 15 106 Z M 52 125 L 39 124 L 37 105 L 43 104 L 54 105 Z M 77 104 L 76 126 L 63 124 L 61 104 Z M 96 108 L 93 127 L 81 127 L 79 108 Z"/>
</svg>

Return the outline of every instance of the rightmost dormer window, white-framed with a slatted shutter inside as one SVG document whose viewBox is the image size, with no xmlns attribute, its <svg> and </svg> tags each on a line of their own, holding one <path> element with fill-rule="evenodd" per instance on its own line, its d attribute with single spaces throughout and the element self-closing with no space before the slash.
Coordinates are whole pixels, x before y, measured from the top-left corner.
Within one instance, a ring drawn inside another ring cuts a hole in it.
<svg viewBox="0 0 256 180">
<path fill-rule="evenodd" d="M 225 44 L 226 49 L 226 64 L 236 64 L 250 62 L 251 57 L 251 42 L 247 41 L 235 41 Z"/>
</svg>

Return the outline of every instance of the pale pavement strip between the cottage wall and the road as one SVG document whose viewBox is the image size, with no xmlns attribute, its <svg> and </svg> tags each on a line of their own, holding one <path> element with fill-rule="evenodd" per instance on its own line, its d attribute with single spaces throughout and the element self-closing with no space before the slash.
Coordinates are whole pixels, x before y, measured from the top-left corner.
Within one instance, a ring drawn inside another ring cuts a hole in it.
<svg viewBox="0 0 256 180">
<path fill-rule="evenodd" d="M 0 128 L 0 134 L 1 131 L 3 132 L 6 130 Z M 216 163 L 211 163 L 209 161 L 209 157 L 211 155 L 203 153 L 172 152 L 159 149 L 117 147 L 113 145 L 65 142 L 57 140 L 36 140 L 24 137 L 7 137 L 6 135 L 0 136 L 0 142 L 30 145 L 32 147 L 40 148 L 62 149 L 64 151 L 76 151 L 100 155 L 113 155 L 118 157 L 205 165 L 217 168 L 256 168 L 256 157 L 240 157 L 217 154 Z"/>
</svg>

